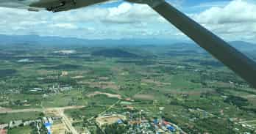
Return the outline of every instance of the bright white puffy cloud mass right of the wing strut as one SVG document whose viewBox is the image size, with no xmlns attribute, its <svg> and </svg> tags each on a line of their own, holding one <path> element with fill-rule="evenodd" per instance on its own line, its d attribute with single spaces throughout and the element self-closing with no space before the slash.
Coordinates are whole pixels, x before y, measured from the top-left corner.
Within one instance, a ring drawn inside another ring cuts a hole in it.
<svg viewBox="0 0 256 134">
<path fill-rule="evenodd" d="M 234 0 L 224 7 L 211 7 L 191 17 L 227 40 L 256 41 L 255 12 L 256 4 Z"/>
</svg>

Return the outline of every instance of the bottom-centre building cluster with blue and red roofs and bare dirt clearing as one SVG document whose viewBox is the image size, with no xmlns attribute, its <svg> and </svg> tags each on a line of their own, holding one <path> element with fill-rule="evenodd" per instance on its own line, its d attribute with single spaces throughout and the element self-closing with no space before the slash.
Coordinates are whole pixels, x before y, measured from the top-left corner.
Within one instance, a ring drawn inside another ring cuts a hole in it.
<svg viewBox="0 0 256 134">
<path fill-rule="evenodd" d="M 127 133 L 185 133 L 176 124 L 164 119 L 147 116 L 144 111 L 126 111 L 124 113 L 105 113 L 96 118 L 96 124 L 102 128 L 107 124 L 117 123 L 128 127 Z M 104 129 L 104 128 L 102 128 Z"/>
</svg>

